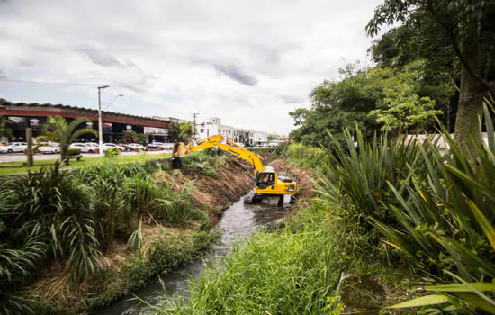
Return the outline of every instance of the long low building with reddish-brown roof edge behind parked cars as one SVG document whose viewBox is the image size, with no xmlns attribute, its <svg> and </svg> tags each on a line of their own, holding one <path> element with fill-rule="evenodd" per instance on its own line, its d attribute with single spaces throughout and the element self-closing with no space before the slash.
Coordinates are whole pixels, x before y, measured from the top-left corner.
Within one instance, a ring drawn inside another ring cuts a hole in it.
<svg viewBox="0 0 495 315">
<path fill-rule="evenodd" d="M 98 132 L 98 111 L 61 104 L 12 103 L 0 98 L 0 116 L 9 121 L 14 131 L 14 141 L 25 140 L 26 128 L 32 129 L 32 136 L 41 135 L 42 125 L 49 117 L 60 116 L 67 121 L 76 118 L 90 120 L 79 129 L 91 128 Z M 103 142 L 121 143 L 123 132 L 133 130 L 148 134 L 149 142 L 173 142 L 168 136 L 171 118 L 143 117 L 119 112 L 102 112 Z M 98 142 L 94 135 L 83 135 L 81 141 Z"/>
</svg>

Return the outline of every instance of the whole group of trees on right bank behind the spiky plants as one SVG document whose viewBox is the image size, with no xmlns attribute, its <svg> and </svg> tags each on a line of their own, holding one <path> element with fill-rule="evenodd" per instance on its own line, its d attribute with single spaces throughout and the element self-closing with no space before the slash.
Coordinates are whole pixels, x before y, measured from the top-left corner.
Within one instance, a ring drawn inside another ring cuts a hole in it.
<svg viewBox="0 0 495 315">
<path fill-rule="evenodd" d="M 356 123 L 374 130 L 434 132 L 436 117 L 466 154 L 481 145 L 482 102 L 495 94 L 495 4 L 482 0 L 385 0 L 366 31 L 401 22 L 369 49 L 375 67 L 349 64 L 340 80 L 311 91 L 311 108 L 291 112 L 291 139 L 329 148 Z M 469 48 L 469 49 L 467 49 Z M 471 139 L 473 136 L 474 141 Z"/>
</svg>

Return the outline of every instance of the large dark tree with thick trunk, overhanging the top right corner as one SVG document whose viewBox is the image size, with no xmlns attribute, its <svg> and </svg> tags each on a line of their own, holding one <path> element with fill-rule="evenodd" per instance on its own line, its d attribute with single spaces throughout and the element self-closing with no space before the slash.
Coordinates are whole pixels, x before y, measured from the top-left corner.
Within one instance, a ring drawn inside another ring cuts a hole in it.
<svg viewBox="0 0 495 315">
<path fill-rule="evenodd" d="M 458 58 L 461 86 L 455 140 L 466 154 L 473 154 L 476 142 L 482 141 L 483 96 L 495 91 L 493 81 L 490 81 L 495 3 L 485 0 L 385 0 L 376 8 L 366 31 L 370 36 L 376 36 L 383 25 L 398 21 L 418 37 L 428 39 L 427 42 L 438 38 L 448 42 Z"/>
</svg>

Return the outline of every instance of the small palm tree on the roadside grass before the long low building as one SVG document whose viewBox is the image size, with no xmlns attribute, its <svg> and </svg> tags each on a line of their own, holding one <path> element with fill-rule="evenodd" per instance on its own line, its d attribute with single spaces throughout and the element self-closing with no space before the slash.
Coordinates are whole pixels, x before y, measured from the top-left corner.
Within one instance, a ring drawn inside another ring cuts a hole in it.
<svg viewBox="0 0 495 315">
<path fill-rule="evenodd" d="M 77 126 L 82 123 L 89 122 L 91 120 L 87 118 L 76 118 L 74 121 L 67 123 L 63 117 L 49 117 L 47 123 L 43 125 L 43 132 L 49 139 L 57 139 L 60 143 L 60 157 L 62 163 L 68 165 L 68 146 L 74 142 L 75 139 L 85 133 L 92 133 L 96 136 L 96 131 L 85 128 L 76 130 Z"/>
</svg>

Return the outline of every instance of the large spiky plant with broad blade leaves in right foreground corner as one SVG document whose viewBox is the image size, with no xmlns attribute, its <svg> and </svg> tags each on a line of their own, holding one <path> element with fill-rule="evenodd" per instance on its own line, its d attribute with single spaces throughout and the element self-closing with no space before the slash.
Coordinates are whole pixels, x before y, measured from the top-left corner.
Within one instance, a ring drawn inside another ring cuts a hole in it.
<svg viewBox="0 0 495 315">
<path fill-rule="evenodd" d="M 388 208 L 399 224 L 374 219 L 403 257 L 435 281 L 448 283 L 426 288 L 442 293 L 437 301 L 450 302 L 446 311 L 467 303 L 473 311 L 495 313 L 495 136 L 486 107 L 484 116 L 488 143 L 477 146 L 475 160 L 442 129 L 447 154 L 431 142 L 432 157 L 421 148 L 428 180 L 411 170 L 411 183 L 389 184 L 399 204 Z M 404 197 L 401 191 L 408 193 Z"/>
</svg>

